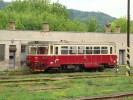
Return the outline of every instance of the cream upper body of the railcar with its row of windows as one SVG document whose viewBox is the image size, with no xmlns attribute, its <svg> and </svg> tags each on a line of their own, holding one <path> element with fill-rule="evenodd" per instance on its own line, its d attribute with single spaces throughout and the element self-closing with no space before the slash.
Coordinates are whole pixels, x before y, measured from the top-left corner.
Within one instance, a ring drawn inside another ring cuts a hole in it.
<svg viewBox="0 0 133 100">
<path fill-rule="evenodd" d="M 29 43 L 29 54 L 47 55 L 88 55 L 88 54 L 115 54 L 115 43 L 88 43 L 88 42 L 44 42 Z M 43 52 L 45 51 L 45 52 Z"/>
</svg>

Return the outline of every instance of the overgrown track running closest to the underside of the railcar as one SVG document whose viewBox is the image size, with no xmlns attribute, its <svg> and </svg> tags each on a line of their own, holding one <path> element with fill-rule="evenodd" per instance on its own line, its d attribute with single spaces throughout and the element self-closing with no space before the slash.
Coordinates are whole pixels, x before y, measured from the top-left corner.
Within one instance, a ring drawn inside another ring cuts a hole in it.
<svg viewBox="0 0 133 100">
<path fill-rule="evenodd" d="M 119 76 L 119 75 L 125 75 L 125 74 L 117 74 L 117 73 L 109 73 L 106 75 L 103 75 L 101 73 L 94 73 L 94 74 L 20 74 L 20 75 L 0 75 L 0 79 L 21 79 L 21 78 L 36 78 L 36 77 L 111 77 L 111 76 Z M 133 73 L 131 73 L 131 76 Z"/>
</svg>

